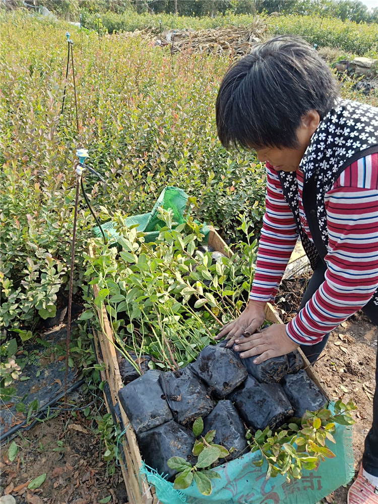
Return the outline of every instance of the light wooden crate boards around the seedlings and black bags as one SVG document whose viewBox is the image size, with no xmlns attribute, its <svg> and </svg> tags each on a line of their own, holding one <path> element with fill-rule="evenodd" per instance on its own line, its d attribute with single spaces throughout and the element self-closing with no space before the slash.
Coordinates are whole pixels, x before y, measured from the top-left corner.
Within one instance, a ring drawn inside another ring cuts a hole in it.
<svg viewBox="0 0 378 504">
<path fill-rule="evenodd" d="M 216 230 L 210 227 L 209 245 L 215 250 L 226 254 L 225 247 L 227 246 L 224 240 L 219 236 Z M 90 249 L 90 255 L 92 251 Z M 93 286 L 94 296 L 97 297 L 99 292 L 98 285 Z M 105 370 L 101 371 L 101 380 L 108 384 L 108 393 L 104 394 L 107 409 L 113 414 L 113 417 L 120 421 L 121 425 L 126 427 L 124 440 L 122 442 L 123 454 L 119 461 L 122 469 L 123 479 L 128 492 L 130 504 L 158 504 L 158 499 L 155 494 L 154 487 L 150 487 L 146 480 L 140 477 L 140 467 L 142 463 L 141 454 L 139 451 L 137 438 L 133 427 L 130 425 L 128 417 L 121 405 L 118 405 L 118 392 L 123 387 L 121 376 L 119 373 L 118 362 L 113 344 L 114 334 L 109 324 L 107 311 L 103 306 L 102 309 L 97 308 L 99 320 L 101 323 L 101 332 L 94 330 L 94 340 L 97 359 L 100 364 L 105 364 Z M 271 322 L 283 324 L 277 311 L 268 303 L 266 306 L 266 318 Z M 321 384 L 318 374 L 310 368 L 310 364 L 304 354 L 299 350 L 304 368 L 308 376 L 315 382 L 323 391 L 328 399 L 330 395 L 325 387 Z"/>
</svg>

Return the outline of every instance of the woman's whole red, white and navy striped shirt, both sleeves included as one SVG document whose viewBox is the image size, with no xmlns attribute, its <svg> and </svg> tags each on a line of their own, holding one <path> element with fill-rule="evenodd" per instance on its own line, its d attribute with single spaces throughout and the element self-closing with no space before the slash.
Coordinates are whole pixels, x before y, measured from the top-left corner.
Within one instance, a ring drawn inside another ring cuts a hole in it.
<svg viewBox="0 0 378 504">
<path fill-rule="evenodd" d="M 303 173 L 296 171 L 300 222 L 312 241 L 303 209 Z M 286 326 L 298 344 L 312 345 L 363 307 L 378 287 L 378 153 L 352 163 L 328 191 L 325 281 Z M 273 301 L 298 238 L 276 171 L 267 163 L 266 213 L 250 299 Z M 378 308 L 377 308 L 378 309 Z"/>
</svg>

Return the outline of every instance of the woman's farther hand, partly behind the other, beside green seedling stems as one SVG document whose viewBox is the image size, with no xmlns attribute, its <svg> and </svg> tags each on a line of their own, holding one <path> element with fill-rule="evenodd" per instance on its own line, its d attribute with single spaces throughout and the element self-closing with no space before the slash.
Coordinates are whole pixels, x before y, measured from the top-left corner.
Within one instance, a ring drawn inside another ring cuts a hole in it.
<svg viewBox="0 0 378 504">
<path fill-rule="evenodd" d="M 240 317 L 222 327 L 221 332 L 217 334 L 215 339 L 220 340 L 226 336 L 226 340 L 229 340 L 226 347 L 230 348 L 233 346 L 235 339 L 241 335 L 250 336 L 254 334 L 264 324 L 266 304 L 265 302 L 250 300 Z"/>
</svg>

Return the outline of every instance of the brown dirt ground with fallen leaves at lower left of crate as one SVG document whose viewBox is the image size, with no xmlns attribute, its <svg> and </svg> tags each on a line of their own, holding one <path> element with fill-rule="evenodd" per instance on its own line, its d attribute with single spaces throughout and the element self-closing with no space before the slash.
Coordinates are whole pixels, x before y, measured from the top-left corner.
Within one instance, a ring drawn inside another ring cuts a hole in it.
<svg viewBox="0 0 378 504">
<path fill-rule="evenodd" d="M 65 433 L 60 415 L 16 437 L 20 451 L 13 463 L 8 450 L 2 451 L 1 495 L 13 495 L 17 504 L 98 504 L 102 499 L 108 502 L 109 496 L 110 504 L 128 502 L 120 469 L 113 476 L 106 474 L 100 439 L 78 420 L 71 424 L 83 431 L 70 428 Z M 28 490 L 30 481 L 44 473 L 44 483 Z"/>
</svg>

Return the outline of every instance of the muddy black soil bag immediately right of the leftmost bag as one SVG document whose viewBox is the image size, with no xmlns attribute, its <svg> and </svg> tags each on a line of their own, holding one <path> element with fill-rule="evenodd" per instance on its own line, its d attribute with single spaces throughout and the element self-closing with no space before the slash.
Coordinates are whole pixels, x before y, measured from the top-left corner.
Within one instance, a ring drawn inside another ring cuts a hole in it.
<svg viewBox="0 0 378 504">
<path fill-rule="evenodd" d="M 207 386 L 188 367 L 162 373 L 159 380 L 173 419 L 182 425 L 208 415 L 215 406 Z"/>
</svg>

